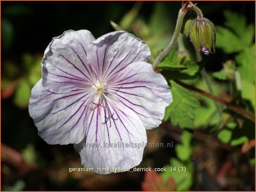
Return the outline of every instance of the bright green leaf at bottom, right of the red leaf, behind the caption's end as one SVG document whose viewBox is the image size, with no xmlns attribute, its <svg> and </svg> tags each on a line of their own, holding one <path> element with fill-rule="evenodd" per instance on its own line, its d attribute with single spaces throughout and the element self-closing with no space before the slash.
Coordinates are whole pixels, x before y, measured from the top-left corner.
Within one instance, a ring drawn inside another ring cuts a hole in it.
<svg viewBox="0 0 256 192">
<path fill-rule="evenodd" d="M 177 184 L 177 191 L 185 191 L 188 190 L 189 187 L 193 184 L 193 164 L 192 162 L 188 162 L 187 164 L 183 164 L 181 161 L 171 158 L 170 165 L 165 166 L 167 171 L 170 171 L 176 168 L 176 171 L 172 172 L 163 172 L 161 173 L 164 180 L 168 180 L 168 178 L 172 177 Z M 178 171 L 179 167 L 186 167 L 186 172 Z"/>
</svg>

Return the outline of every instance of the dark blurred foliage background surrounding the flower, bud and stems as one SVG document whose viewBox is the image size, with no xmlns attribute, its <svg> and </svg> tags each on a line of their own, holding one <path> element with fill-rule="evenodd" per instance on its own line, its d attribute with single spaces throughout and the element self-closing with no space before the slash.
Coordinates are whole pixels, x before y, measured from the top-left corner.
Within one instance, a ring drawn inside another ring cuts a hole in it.
<svg viewBox="0 0 256 192">
<path fill-rule="evenodd" d="M 125 30 L 151 49 L 165 48 L 181 2 L 1 2 L 1 190 L 255 190 L 255 122 L 176 80 L 255 111 L 255 3 L 199 2 L 216 26 L 216 54 L 196 53 L 189 40 L 158 65 L 173 103 L 148 142 L 138 167 L 186 167 L 186 172 L 99 175 L 82 167 L 73 145 L 48 145 L 29 117 L 31 88 L 41 78 L 41 59 L 51 39 L 68 29 L 98 38 Z M 100 183 L 100 185 L 99 185 Z"/>
</svg>

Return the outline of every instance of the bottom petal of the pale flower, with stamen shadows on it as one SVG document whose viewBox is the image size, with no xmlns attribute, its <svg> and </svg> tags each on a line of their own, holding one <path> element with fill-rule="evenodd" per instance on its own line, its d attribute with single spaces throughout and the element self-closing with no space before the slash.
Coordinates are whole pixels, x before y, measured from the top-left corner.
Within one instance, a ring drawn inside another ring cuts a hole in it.
<svg viewBox="0 0 256 192">
<path fill-rule="evenodd" d="M 74 148 L 81 164 L 101 174 L 123 172 L 97 168 L 132 168 L 137 166 L 146 145 L 146 129 L 136 114 L 117 103 L 103 104 L 108 108 L 93 111 L 84 139 Z M 123 144 L 122 144 L 123 143 Z M 132 144 L 133 143 L 133 144 Z"/>
</svg>

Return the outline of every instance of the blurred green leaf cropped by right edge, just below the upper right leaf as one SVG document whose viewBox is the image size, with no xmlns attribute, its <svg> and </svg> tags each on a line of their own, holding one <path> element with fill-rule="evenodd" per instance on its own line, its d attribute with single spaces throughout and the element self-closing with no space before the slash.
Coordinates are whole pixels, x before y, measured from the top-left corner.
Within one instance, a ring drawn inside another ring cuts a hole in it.
<svg viewBox="0 0 256 192">
<path fill-rule="evenodd" d="M 237 70 L 242 78 L 254 83 L 255 82 L 255 45 L 247 47 L 239 53 L 235 60 L 239 64 Z"/>
</svg>

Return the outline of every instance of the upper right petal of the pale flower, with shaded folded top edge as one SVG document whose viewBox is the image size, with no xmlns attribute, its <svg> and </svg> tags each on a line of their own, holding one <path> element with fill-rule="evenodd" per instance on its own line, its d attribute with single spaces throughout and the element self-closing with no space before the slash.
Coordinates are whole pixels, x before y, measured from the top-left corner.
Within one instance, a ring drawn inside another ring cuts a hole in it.
<svg viewBox="0 0 256 192">
<path fill-rule="evenodd" d="M 151 57 L 148 45 L 125 31 L 115 31 L 91 42 L 89 46 L 90 64 L 95 66 L 100 80 L 115 75 L 125 66 L 137 62 L 147 62 Z"/>
</svg>

